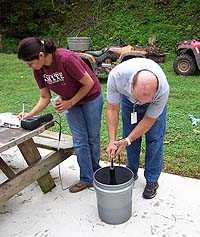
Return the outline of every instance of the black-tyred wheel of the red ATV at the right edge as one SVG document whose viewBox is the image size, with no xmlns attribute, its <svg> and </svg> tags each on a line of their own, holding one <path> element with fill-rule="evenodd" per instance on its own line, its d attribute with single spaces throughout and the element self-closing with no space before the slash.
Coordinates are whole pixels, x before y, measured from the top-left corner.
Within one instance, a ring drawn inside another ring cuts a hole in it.
<svg viewBox="0 0 200 237">
<path fill-rule="evenodd" d="M 176 74 L 183 76 L 193 75 L 197 70 L 196 62 L 189 54 L 177 56 L 173 63 L 173 68 Z"/>
</svg>

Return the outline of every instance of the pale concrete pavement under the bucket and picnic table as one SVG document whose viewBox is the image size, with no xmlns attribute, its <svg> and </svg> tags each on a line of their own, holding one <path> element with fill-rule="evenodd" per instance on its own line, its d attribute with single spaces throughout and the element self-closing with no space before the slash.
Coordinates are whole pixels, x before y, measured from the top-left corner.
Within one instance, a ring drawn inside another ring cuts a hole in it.
<svg viewBox="0 0 200 237">
<path fill-rule="evenodd" d="M 3 156 L 16 169 L 25 165 L 17 148 Z M 65 188 L 78 180 L 75 156 L 60 168 Z M 140 169 L 133 189 L 132 217 L 126 223 L 108 225 L 98 217 L 94 189 L 71 194 L 61 188 L 58 167 L 51 173 L 57 185 L 52 192 L 43 194 L 34 183 L 0 206 L 1 237 L 200 236 L 200 180 L 162 173 L 157 196 L 145 200 Z M 0 173 L 0 181 L 4 179 Z"/>
</svg>

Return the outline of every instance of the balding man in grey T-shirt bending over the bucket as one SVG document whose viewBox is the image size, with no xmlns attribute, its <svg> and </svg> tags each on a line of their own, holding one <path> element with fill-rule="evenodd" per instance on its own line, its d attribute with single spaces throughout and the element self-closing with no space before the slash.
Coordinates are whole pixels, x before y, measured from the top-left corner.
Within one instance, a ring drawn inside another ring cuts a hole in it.
<svg viewBox="0 0 200 237">
<path fill-rule="evenodd" d="M 163 163 L 169 85 L 161 67 L 150 59 L 133 58 L 116 66 L 107 83 L 107 126 L 110 159 L 126 148 L 127 167 L 137 179 L 142 135 L 146 137 L 143 197 L 155 197 Z M 117 140 L 119 110 L 123 139 Z"/>
</svg>

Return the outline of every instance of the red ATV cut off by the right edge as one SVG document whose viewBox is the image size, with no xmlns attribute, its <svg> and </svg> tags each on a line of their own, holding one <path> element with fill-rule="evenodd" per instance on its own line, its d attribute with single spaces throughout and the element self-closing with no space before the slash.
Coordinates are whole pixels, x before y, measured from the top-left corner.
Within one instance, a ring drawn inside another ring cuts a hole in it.
<svg viewBox="0 0 200 237">
<path fill-rule="evenodd" d="M 183 76 L 194 75 L 200 69 L 200 40 L 185 40 L 177 43 L 174 72 Z"/>
</svg>

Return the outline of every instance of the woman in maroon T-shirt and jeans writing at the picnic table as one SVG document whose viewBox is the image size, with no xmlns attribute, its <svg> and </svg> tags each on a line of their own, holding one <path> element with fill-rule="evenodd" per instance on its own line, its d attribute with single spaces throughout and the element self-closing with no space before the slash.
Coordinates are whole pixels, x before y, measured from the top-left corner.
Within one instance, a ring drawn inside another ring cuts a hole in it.
<svg viewBox="0 0 200 237">
<path fill-rule="evenodd" d="M 80 181 L 69 191 L 74 193 L 91 187 L 93 173 L 100 168 L 103 105 L 96 75 L 76 53 L 56 48 L 51 40 L 23 39 L 18 46 L 18 58 L 32 68 L 40 90 L 37 104 L 23 117 L 32 117 L 44 110 L 50 103 L 51 91 L 60 95 L 55 109 L 65 113 L 80 166 Z"/>
</svg>

